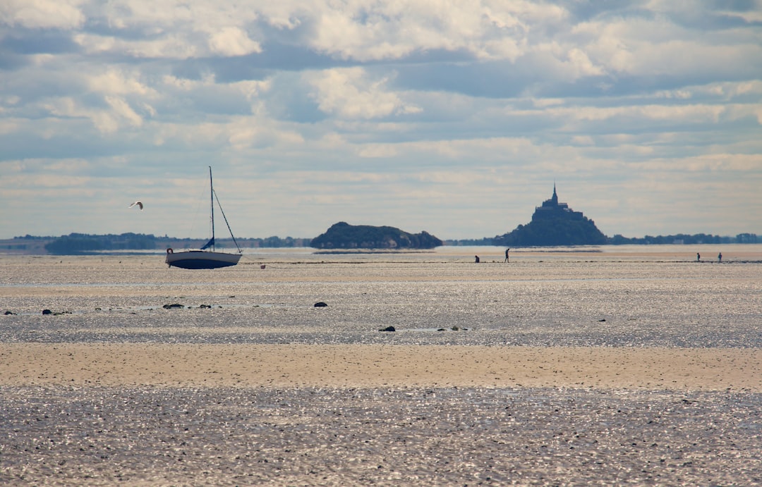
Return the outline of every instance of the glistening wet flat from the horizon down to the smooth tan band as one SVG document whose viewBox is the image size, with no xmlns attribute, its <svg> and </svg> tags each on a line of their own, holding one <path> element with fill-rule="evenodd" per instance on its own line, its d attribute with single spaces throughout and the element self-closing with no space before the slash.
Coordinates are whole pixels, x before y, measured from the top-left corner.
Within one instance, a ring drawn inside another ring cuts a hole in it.
<svg viewBox="0 0 762 487">
<path fill-rule="evenodd" d="M 13 313 L 0 340 L 757 348 L 762 246 L 722 250 L 722 264 L 684 259 L 690 246 L 514 250 L 510 263 L 497 247 L 260 250 L 197 271 L 158 254 L 0 256 Z"/>
</svg>

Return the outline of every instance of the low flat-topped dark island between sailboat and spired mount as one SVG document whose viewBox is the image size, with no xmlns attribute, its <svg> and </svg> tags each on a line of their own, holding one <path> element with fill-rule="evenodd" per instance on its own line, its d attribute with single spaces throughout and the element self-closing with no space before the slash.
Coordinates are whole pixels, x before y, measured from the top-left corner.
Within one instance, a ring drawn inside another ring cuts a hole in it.
<svg viewBox="0 0 762 487">
<path fill-rule="evenodd" d="M 442 240 L 425 231 L 409 234 L 399 228 L 351 225 L 344 221 L 331 225 L 309 243 L 315 249 L 433 249 L 440 245 Z"/>
</svg>

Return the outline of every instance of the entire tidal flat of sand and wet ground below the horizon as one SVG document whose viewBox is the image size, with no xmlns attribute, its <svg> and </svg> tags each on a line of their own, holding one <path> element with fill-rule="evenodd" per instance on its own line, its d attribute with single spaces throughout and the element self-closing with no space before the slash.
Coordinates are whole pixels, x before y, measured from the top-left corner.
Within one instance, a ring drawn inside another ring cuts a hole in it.
<svg viewBox="0 0 762 487">
<path fill-rule="evenodd" d="M 762 482 L 762 246 L 0 265 L 4 485 Z"/>
</svg>

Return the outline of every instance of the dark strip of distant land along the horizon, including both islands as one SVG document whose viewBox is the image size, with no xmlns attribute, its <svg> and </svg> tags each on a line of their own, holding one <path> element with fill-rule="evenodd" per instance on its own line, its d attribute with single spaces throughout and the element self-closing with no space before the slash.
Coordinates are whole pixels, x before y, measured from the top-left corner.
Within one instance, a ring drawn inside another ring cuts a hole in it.
<svg viewBox="0 0 762 487">
<path fill-rule="evenodd" d="M 762 243 L 762 236 L 752 233 L 735 237 L 712 234 L 645 235 L 624 237 L 615 234 L 608 237 L 595 222 L 575 212 L 565 202 L 559 201 L 555 184 L 549 199 L 535 207 L 532 220 L 520 224 L 513 231 L 495 237 L 479 239 L 441 240 L 427 231 L 412 234 L 391 226 L 348 224 L 339 221 L 325 233 L 314 238 L 267 237 L 216 239 L 221 248 L 314 248 L 317 253 L 393 253 L 400 250 L 431 250 L 440 246 L 475 247 L 498 246 L 506 248 L 530 247 L 578 247 L 600 245 L 723 245 L 730 243 Z M 0 253 L 16 255 L 88 255 L 126 251 L 199 249 L 206 238 L 156 237 L 153 234 L 69 234 L 60 237 L 14 237 L 0 240 Z M 507 256 L 507 254 L 506 254 Z"/>
</svg>

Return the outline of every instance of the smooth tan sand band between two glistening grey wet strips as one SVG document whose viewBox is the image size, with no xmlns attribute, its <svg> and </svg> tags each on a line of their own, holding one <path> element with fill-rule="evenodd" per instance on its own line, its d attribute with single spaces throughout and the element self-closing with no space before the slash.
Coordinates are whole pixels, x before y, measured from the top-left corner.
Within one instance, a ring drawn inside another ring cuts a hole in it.
<svg viewBox="0 0 762 487">
<path fill-rule="evenodd" d="M 0 343 L 0 385 L 762 392 L 760 349 Z"/>
</svg>

